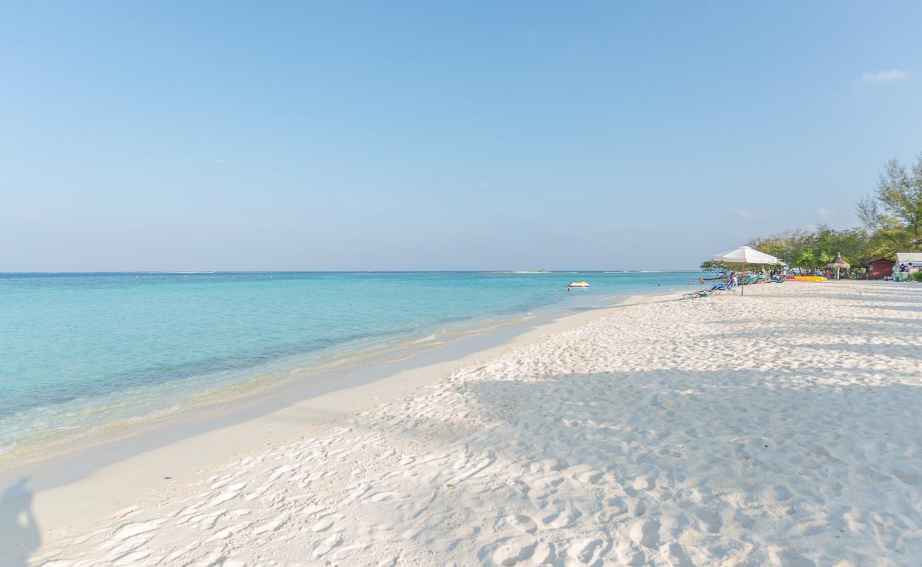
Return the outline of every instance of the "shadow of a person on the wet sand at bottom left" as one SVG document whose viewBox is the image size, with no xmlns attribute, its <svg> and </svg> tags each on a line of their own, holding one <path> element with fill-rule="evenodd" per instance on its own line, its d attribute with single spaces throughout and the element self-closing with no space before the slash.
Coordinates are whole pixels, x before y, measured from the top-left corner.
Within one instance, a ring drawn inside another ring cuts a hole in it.
<svg viewBox="0 0 922 567">
<path fill-rule="evenodd" d="M 0 497 L 0 565 L 20 567 L 41 544 L 39 526 L 32 514 L 29 477 L 19 478 Z"/>
</svg>

